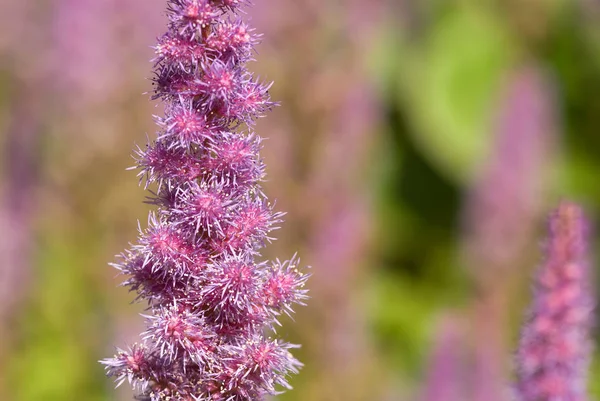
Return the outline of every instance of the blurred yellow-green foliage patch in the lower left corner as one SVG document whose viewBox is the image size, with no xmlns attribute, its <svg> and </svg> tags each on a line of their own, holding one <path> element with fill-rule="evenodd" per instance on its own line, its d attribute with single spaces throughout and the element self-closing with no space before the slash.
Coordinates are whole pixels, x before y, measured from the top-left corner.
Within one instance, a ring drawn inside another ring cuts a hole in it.
<svg viewBox="0 0 600 401">
<path fill-rule="evenodd" d="M 106 316 L 86 266 L 97 245 L 89 236 L 57 231 L 42 233 L 33 297 L 14 333 L 8 382 L 17 400 L 102 400 L 106 383 L 96 361 Z"/>
</svg>

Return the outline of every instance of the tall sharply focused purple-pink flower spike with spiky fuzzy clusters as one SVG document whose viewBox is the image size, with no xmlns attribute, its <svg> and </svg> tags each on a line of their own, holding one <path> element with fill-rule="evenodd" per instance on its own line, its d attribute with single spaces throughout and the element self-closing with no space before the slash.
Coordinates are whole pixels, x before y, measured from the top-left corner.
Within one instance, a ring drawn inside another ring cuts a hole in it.
<svg viewBox="0 0 600 401">
<path fill-rule="evenodd" d="M 255 262 L 281 221 L 253 122 L 273 104 L 245 68 L 259 36 L 241 0 L 169 0 L 155 47 L 158 138 L 137 150 L 158 210 L 115 264 L 149 304 L 143 341 L 104 360 L 149 400 L 260 400 L 300 363 L 268 337 L 306 297 L 298 260 Z"/>
</svg>

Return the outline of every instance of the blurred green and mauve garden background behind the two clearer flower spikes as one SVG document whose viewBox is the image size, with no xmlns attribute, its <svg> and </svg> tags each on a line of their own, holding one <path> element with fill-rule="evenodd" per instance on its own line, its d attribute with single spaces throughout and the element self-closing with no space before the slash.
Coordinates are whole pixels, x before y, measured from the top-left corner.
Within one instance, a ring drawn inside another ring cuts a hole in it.
<svg viewBox="0 0 600 401">
<path fill-rule="evenodd" d="M 506 399 L 543 217 L 600 208 L 600 2 L 255 3 L 250 68 L 281 103 L 256 131 L 287 211 L 265 257 L 313 274 L 277 399 Z M 131 399 L 97 360 L 143 330 L 107 263 L 146 221 L 126 168 L 160 113 L 164 7 L 0 0 L 3 400 Z"/>
</svg>

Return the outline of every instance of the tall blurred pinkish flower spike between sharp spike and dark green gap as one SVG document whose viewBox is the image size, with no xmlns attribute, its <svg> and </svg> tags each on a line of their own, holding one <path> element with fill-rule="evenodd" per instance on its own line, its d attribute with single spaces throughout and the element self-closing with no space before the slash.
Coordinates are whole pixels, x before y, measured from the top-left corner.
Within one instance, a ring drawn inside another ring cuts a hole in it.
<svg viewBox="0 0 600 401">
<path fill-rule="evenodd" d="M 369 134 L 377 121 L 371 96 L 366 85 L 361 88 L 355 83 L 347 90 L 336 126 L 321 140 L 324 152 L 316 160 L 319 168 L 307 186 L 307 195 L 322 196 L 322 202 L 312 205 L 315 214 L 308 242 L 311 263 L 315 270 L 321 269 L 314 274 L 314 296 L 326 300 L 321 308 L 324 325 L 319 365 L 344 400 L 364 399 L 374 379 L 361 296 L 364 288 L 360 286 L 368 263 L 371 206 L 366 188 L 355 182 L 364 174 Z"/>
</svg>

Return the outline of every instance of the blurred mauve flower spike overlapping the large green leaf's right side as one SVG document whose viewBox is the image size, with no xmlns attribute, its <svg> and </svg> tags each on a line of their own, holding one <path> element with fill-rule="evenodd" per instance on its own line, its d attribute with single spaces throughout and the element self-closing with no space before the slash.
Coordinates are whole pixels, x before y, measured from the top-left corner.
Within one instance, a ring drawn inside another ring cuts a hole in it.
<svg viewBox="0 0 600 401">
<path fill-rule="evenodd" d="M 557 131 L 554 94 L 538 68 L 521 67 L 506 83 L 492 154 L 465 208 L 469 268 L 492 283 L 509 273 L 532 236 Z"/>
</svg>

